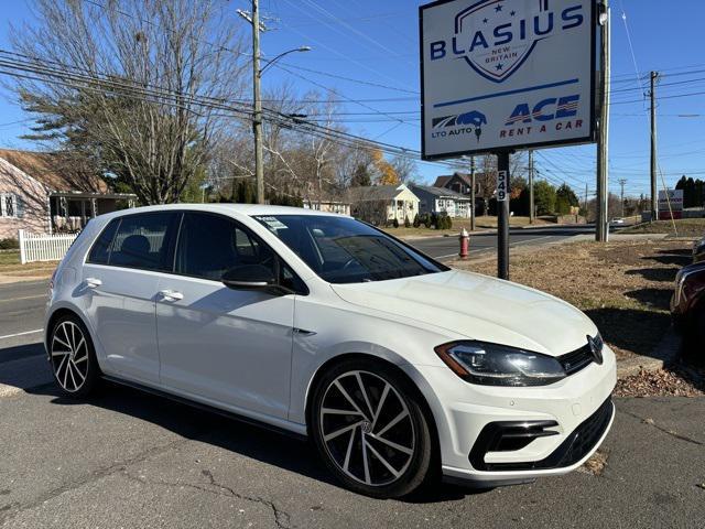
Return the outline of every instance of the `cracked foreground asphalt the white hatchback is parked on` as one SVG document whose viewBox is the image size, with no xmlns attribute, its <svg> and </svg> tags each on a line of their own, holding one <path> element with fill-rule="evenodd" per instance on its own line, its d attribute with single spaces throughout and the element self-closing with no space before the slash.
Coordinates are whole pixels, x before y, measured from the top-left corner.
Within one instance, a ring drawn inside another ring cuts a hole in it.
<svg viewBox="0 0 705 529">
<path fill-rule="evenodd" d="M 600 476 L 381 501 L 280 434 L 118 386 L 62 398 L 41 347 L 23 347 L 0 353 L 2 528 L 705 526 L 705 398 L 618 399 Z"/>
</svg>

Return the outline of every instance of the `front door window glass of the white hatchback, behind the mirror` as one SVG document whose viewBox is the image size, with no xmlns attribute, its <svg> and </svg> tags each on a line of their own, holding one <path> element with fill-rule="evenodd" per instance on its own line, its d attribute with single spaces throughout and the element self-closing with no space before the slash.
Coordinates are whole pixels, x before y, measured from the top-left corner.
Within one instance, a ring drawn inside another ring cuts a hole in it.
<svg viewBox="0 0 705 529">
<path fill-rule="evenodd" d="M 274 253 L 235 220 L 186 213 L 176 248 L 176 273 L 220 281 L 243 264 L 274 267 Z"/>
</svg>

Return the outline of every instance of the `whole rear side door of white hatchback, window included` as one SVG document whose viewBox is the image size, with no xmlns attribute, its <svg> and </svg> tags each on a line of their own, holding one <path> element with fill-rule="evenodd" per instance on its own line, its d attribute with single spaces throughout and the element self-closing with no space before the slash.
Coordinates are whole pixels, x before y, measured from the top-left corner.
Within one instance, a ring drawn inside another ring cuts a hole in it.
<svg viewBox="0 0 705 529">
<path fill-rule="evenodd" d="M 126 215 L 94 244 L 83 269 L 80 295 L 118 375 L 159 382 L 154 299 L 159 272 L 171 271 L 181 213 Z"/>
</svg>

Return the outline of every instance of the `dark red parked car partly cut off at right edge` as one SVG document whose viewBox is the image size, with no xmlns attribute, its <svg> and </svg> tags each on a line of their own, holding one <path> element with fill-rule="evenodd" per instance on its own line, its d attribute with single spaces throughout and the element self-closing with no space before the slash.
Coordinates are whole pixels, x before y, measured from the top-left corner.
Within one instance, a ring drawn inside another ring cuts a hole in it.
<svg viewBox="0 0 705 529">
<path fill-rule="evenodd" d="M 705 363 L 705 262 L 683 267 L 675 276 L 671 314 L 683 331 L 687 353 Z"/>
</svg>

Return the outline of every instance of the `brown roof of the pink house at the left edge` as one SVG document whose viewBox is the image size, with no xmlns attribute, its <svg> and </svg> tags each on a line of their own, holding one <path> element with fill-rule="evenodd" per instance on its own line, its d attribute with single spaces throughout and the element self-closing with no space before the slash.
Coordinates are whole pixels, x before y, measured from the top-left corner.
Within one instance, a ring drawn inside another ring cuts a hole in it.
<svg viewBox="0 0 705 529">
<path fill-rule="evenodd" d="M 108 192 L 101 179 L 80 171 L 74 161 L 58 153 L 0 149 L 0 158 L 52 191 Z"/>
</svg>

